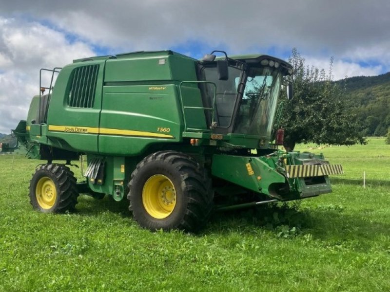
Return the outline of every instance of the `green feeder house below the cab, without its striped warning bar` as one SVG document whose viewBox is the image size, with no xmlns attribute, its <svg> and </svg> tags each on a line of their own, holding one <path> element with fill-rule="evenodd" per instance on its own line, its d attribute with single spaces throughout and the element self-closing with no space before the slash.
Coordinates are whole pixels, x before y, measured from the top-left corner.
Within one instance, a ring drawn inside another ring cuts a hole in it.
<svg viewBox="0 0 390 292">
<path fill-rule="evenodd" d="M 304 178 L 287 178 L 283 165 L 278 165 L 280 157 L 284 157 L 288 164 L 302 165 L 302 161 L 323 161 L 322 155 L 300 152 L 280 152 L 279 154 L 280 156 L 214 155 L 212 174 L 256 193 L 282 201 L 303 199 L 331 192 L 328 176 L 321 177 L 319 183 L 311 185 L 307 184 Z M 286 191 L 277 192 L 276 189 L 283 185 Z"/>
</svg>

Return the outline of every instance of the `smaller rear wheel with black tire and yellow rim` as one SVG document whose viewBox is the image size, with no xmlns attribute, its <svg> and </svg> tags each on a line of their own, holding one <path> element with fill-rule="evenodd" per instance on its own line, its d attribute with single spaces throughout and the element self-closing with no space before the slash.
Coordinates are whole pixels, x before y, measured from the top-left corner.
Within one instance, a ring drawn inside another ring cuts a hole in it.
<svg viewBox="0 0 390 292">
<path fill-rule="evenodd" d="M 41 165 L 30 181 L 30 203 L 41 212 L 72 212 L 77 197 L 76 178 L 63 164 Z"/>
</svg>

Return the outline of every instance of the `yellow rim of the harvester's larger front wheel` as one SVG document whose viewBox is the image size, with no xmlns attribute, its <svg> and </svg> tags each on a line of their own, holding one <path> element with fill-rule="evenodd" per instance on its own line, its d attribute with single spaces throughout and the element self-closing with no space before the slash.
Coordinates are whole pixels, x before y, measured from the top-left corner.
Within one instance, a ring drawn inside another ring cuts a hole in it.
<svg viewBox="0 0 390 292">
<path fill-rule="evenodd" d="M 175 186 L 165 175 L 151 176 L 143 186 L 142 203 L 150 216 L 167 218 L 176 206 Z"/>
</svg>

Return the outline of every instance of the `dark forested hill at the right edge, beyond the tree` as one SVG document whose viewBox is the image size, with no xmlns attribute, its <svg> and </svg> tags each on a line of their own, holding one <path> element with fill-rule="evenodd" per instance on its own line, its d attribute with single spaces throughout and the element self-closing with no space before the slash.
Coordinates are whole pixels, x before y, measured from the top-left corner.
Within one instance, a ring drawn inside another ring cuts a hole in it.
<svg viewBox="0 0 390 292">
<path fill-rule="evenodd" d="M 390 72 L 378 76 L 356 76 L 337 81 L 351 100 L 364 136 L 383 136 L 390 128 Z"/>
</svg>

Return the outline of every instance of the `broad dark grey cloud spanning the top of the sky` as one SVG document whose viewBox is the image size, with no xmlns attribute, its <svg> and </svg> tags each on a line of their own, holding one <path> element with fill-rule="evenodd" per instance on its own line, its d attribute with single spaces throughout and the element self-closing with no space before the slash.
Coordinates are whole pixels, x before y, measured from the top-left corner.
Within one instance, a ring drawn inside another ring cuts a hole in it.
<svg viewBox="0 0 390 292">
<path fill-rule="evenodd" d="M 45 17 L 93 43 L 127 50 L 158 50 L 200 40 L 249 48 L 297 47 L 316 55 L 351 48 L 389 48 L 388 0 L 19 0 L 3 13 Z"/>
</svg>

